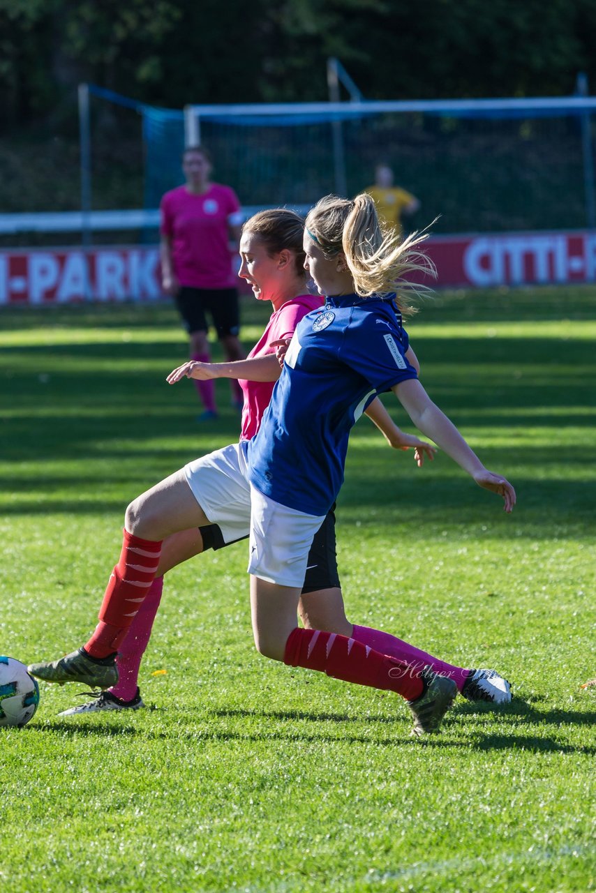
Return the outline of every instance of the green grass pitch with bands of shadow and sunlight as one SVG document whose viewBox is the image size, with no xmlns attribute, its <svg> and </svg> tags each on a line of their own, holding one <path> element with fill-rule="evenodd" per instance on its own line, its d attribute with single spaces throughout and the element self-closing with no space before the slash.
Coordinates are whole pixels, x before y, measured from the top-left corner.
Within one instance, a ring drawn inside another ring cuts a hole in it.
<svg viewBox="0 0 596 893">
<path fill-rule="evenodd" d="M 251 344 L 264 308 L 244 318 Z M 42 684 L 29 726 L 0 730 L 1 889 L 595 889 L 596 293 L 442 295 L 408 328 L 424 384 L 518 505 L 358 422 L 348 616 L 499 669 L 512 704 L 458 699 L 412 739 L 399 697 L 257 655 L 246 547 L 204 555 L 165 581 L 151 709 L 60 718 L 80 689 Z M 165 384 L 186 353 L 167 306 L 4 309 L 0 347 L 0 654 L 27 663 L 88 637 L 130 498 L 238 418 L 225 382 L 208 428 L 190 383 Z"/>
</svg>

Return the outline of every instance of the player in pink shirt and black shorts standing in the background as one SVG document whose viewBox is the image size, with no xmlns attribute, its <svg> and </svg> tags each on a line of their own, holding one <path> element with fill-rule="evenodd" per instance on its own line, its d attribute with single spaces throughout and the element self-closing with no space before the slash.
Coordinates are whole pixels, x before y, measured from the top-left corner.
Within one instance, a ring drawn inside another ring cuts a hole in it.
<svg viewBox="0 0 596 893">
<path fill-rule="evenodd" d="M 189 332 L 190 359 L 210 360 L 207 313 L 228 360 L 244 357 L 239 342 L 238 288 L 231 270 L 231 241 L 238 249 L 242 213 L 229 186 L 213 183 L 211 160 L 203 146 L 182 156 L 186 183 L 166 192 L 160 205 L 162 285 L 172 295 Z M 202 421 L 217 417 L 214 382 L 197 381 Z M 242 406 L 238 382 L 231 381 L 232 404 Z"/>
</svg>

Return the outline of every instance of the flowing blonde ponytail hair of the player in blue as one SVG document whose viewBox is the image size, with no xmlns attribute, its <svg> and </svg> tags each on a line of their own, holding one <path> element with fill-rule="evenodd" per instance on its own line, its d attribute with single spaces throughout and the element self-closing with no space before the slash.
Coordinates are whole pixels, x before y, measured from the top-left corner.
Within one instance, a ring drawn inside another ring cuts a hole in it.
<svg viewBox="0 0 596 893">
<path fill-rule="evenodd" d="M 434 264 L 418 250 L 428 232 L 401 238 L 379 221 L 372 196 L 363 192 L 351 200 L 324 196 L 306 216 L 306 232 L 329 260 L 340 252 L 346 257 L 357 295 L 397 294 L 404 316 L 416 313 L 412 296 L 431 294 L 432 289 L 404 279 L 419 272 L 436 277 Z"/>
</svg>

